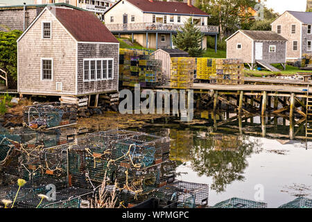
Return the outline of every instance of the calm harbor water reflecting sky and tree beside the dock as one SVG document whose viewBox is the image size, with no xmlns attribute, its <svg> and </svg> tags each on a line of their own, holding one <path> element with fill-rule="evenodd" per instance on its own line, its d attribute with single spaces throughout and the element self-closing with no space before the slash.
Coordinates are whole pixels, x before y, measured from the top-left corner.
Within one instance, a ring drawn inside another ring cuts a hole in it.
<svg viewBox="0 0 312 222">
<path fill-rule="evenodd" d="M 209 112 L 196 121 L 157 119 L 139 130 L 171 137 L 177 179 L 209 185 L 210 206 L 233 197 L 262 199 L 268 207 L 312 198 L 312 142 L 300 139 L 304 123 Z"/>
</svg>

